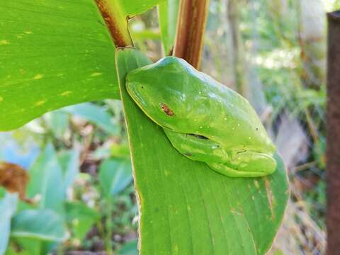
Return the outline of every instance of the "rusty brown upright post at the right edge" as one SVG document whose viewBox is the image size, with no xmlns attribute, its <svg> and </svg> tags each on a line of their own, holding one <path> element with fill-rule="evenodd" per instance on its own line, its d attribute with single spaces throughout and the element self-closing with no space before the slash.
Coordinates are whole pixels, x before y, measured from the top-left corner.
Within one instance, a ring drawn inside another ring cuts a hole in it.
<svg viewBox="0 0 340 255">
<path fill-rule="evenodd" d="M 340 11 L 328 14 L 327 254 L 340 251 Z"/>
</svg>

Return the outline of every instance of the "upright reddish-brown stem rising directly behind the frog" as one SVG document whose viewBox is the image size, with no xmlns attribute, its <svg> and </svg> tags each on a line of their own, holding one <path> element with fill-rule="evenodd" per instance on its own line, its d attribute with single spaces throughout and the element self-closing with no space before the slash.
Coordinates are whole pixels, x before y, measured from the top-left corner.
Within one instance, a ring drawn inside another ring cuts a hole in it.
<svg viewBox="0 0 340 255">
<path fill-rule="evenodd" d="M 209 0 L 181 0 L 174 56 L 200 68 Z"/>
</svg>

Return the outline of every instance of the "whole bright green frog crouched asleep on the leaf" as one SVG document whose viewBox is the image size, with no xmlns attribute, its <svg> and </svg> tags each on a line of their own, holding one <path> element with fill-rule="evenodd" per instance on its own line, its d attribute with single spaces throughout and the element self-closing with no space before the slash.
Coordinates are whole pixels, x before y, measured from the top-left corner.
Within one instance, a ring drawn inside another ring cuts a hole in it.
<svg viewBox="0 0 340 255">
<path fill-rule="evenodd" d="M 185 60 L 164 57 L 135 69 L 126 88 L 184 156 L 230 177 L 275 171 L 276 148 L 250 103 Z"/>
</svg>

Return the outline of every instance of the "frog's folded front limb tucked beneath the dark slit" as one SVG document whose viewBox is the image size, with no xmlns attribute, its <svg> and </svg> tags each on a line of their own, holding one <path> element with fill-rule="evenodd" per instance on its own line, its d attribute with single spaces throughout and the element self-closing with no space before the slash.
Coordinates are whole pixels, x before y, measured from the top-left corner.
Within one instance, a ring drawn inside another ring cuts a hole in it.
<svg viewBox="0 0 340 255">
<path fill-rule="evenodd" d="M 189 159 L 221 164 L 228 161 L 225 149 L 205 137 L 174 132 L 165 128 L 164 132 L 171 145 Z"/>
</svg>

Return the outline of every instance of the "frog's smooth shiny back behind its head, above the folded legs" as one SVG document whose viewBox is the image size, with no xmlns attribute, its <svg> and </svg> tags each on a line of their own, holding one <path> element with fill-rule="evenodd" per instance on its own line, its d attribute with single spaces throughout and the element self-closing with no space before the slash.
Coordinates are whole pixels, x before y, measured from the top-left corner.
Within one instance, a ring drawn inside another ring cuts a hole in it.
<svg viewBox="0 0 340 255">
<path fill-rule="evenodd" d="M 235 149 L 237 145 L 241 150 L 273 152 L 275 146 L 249 101 L 208 74 L 194 70 L 196 82 L 201 88 L 198 94 L 205 97 L 211 108 L 209 119 L 206 121 L 210 125 L 207 125 L 205 132 L 208 135 L 215 134 L 216 137 L 210 138 L 222 140 L 225 149 Z M 196 107 L 199 108 L 200 105 Z M 212 132 L 209 129 L 212 129 Z"/>
</svg>

